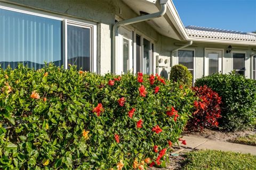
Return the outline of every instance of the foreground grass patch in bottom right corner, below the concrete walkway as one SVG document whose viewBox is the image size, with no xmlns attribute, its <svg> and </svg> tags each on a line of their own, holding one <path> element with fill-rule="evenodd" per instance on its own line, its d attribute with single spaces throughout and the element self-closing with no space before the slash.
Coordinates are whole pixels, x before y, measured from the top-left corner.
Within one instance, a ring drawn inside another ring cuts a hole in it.
<svg viewBox="0 0 256 170">
<path fill-rule="evenodd" d="M 188 152 L 185 156 L 184 169 L 221 169 L 239 170 L 256 169 L 256 156 L 235 152 L 199 150 Z"/>
</svg>

